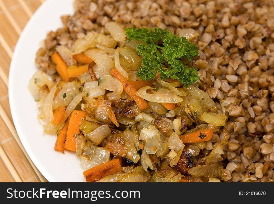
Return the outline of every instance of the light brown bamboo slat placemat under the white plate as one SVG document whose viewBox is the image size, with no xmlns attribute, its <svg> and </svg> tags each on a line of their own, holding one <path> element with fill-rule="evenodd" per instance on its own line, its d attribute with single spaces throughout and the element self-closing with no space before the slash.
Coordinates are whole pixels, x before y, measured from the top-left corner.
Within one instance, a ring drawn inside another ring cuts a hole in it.
<svg viewBox="0 0 274 204">
<path fill-rule="evenodd" d="M 8 72 L 27 21 L 44 0 L 0 0 L 0 182 L 47 182 L 24 149 L 12 122 Z"/>
</svg>

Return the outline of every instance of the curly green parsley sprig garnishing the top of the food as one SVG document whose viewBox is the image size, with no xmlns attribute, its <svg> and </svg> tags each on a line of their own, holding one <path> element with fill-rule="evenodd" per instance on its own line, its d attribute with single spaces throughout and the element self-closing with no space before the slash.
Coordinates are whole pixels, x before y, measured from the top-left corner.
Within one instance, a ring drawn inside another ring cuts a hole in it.
<svg viewBox="0 0 274 204">
<path fill-rule="evenodd" d="M 158 72 L 162 80 L 178 79 L 183 85 L 190 85 L 199 79 L 197 70 L 185 66 L 181 59 L 191 61 L 198 55 L 197 46 L 185 37 L 173 35 L 167 29 L 133 27 L 125 28 L 128 40 L 139 40 L 137 54 L 142 65 L 136 75 L 142 80 L 152 80 Z"/>
</svg>

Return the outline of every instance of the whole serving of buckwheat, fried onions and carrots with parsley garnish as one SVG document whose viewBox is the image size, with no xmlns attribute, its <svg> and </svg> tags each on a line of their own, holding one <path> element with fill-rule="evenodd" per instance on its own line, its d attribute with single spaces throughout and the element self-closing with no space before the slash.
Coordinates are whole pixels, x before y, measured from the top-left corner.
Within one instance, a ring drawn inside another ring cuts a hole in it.
<svg viewBox="0 0 274 204">
<path fill-rule="evenodd" d="M 87 182 L 274 177 L 274 2 L 75 0 L 28 88 Z"/>
</svg>

